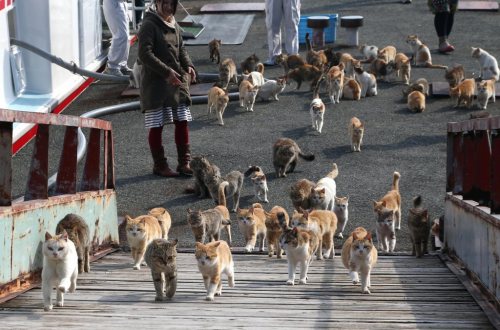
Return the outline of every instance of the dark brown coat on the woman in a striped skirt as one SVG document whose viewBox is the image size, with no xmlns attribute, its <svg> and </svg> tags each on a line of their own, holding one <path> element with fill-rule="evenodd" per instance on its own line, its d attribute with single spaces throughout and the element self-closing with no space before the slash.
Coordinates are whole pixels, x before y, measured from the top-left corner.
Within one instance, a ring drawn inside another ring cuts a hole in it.
<svg viewBox="0 0 500 330">
<path fill-rule="evenodd" d="M 184 48 L 180 27 L 168 27 L 153 11 L 146 12 L 138 33 L 142 112 L 164 106 L 191 105 L 188 68 L 193 63 Z M 181 86 L 167 82 L 169 69 L 181 75 Z"/>
</svg>

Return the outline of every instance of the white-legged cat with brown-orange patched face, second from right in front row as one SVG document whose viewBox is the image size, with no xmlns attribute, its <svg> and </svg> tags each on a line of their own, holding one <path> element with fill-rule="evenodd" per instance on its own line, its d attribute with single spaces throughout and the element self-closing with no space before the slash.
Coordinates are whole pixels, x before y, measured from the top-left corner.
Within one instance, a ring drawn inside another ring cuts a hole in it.
<svg viewBox="0 0 500 330">
<path fill-rule="evenodd" d="M 318 236 L 309 230 L 286 228 L 280 236 L 280 245 L 286 253 L 288 262 L 288 280 L 286 284 L 295 284 L 295 268 L 300 264 L 299 284 L 307 283 L 307 272 L 314 252 L 320 246 Z"/>
</svg>

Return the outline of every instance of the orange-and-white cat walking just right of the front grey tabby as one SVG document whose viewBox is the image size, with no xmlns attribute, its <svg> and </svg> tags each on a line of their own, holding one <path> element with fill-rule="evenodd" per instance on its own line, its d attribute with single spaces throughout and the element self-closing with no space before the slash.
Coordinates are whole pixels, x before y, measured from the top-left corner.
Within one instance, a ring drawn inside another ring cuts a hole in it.
<svg viewBox="0 0 500 330">
<path fill-rule="evenodd" d="M 205 300 L 213 301 L 214 296 L 222 295 L 222 273 L 226 274 L 228 285 L 234 287 L 233 256 L 226 242 L 216 241 L 205 245 L 196 242 L 194 255 L 207 290 Z"/>
</svg>

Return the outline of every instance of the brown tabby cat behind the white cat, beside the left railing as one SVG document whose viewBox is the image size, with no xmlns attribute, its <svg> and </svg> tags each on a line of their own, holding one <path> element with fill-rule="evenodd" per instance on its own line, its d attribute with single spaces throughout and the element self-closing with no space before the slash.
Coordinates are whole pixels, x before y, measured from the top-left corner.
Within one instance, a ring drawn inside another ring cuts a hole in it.
<svg viewBox="0 0 500 330">
<path fill-rule="evenodd" d="M 90 271 L 90 232 L 85 220 L 73 213 L 67 214 L 57 224 L 56 235 L 63 231 L 68 233 L 68 238 L 73 242 L 78 255 L 78 273 Z"/>
</svg>

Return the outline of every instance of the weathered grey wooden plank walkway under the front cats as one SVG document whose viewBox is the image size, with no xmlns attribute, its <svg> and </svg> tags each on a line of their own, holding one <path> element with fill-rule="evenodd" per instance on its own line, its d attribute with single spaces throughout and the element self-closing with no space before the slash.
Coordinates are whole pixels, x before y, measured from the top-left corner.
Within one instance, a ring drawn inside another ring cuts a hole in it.
<svg viewBox="0 0 500 330">
<path fill-rule="evenodd" d="M 494 328 L 437 256 L 380 257 L 371 295 L 349 281 L 339 256 L 314 260 L 308 284 L 293 287 L 285 284 L 286 259 L 234 259 L 236 287 L 224 278 L 222 296 L 206 302 L 194 255 L 179 253 L 176 295 L 155 303 L 149 269 L 132 270 L 128 253 L 110 254 L 79 277 L 64 308 L 44 312 L 41 290 L 33 289 L 0 305 L 0 328 Z"/>
</svg>

